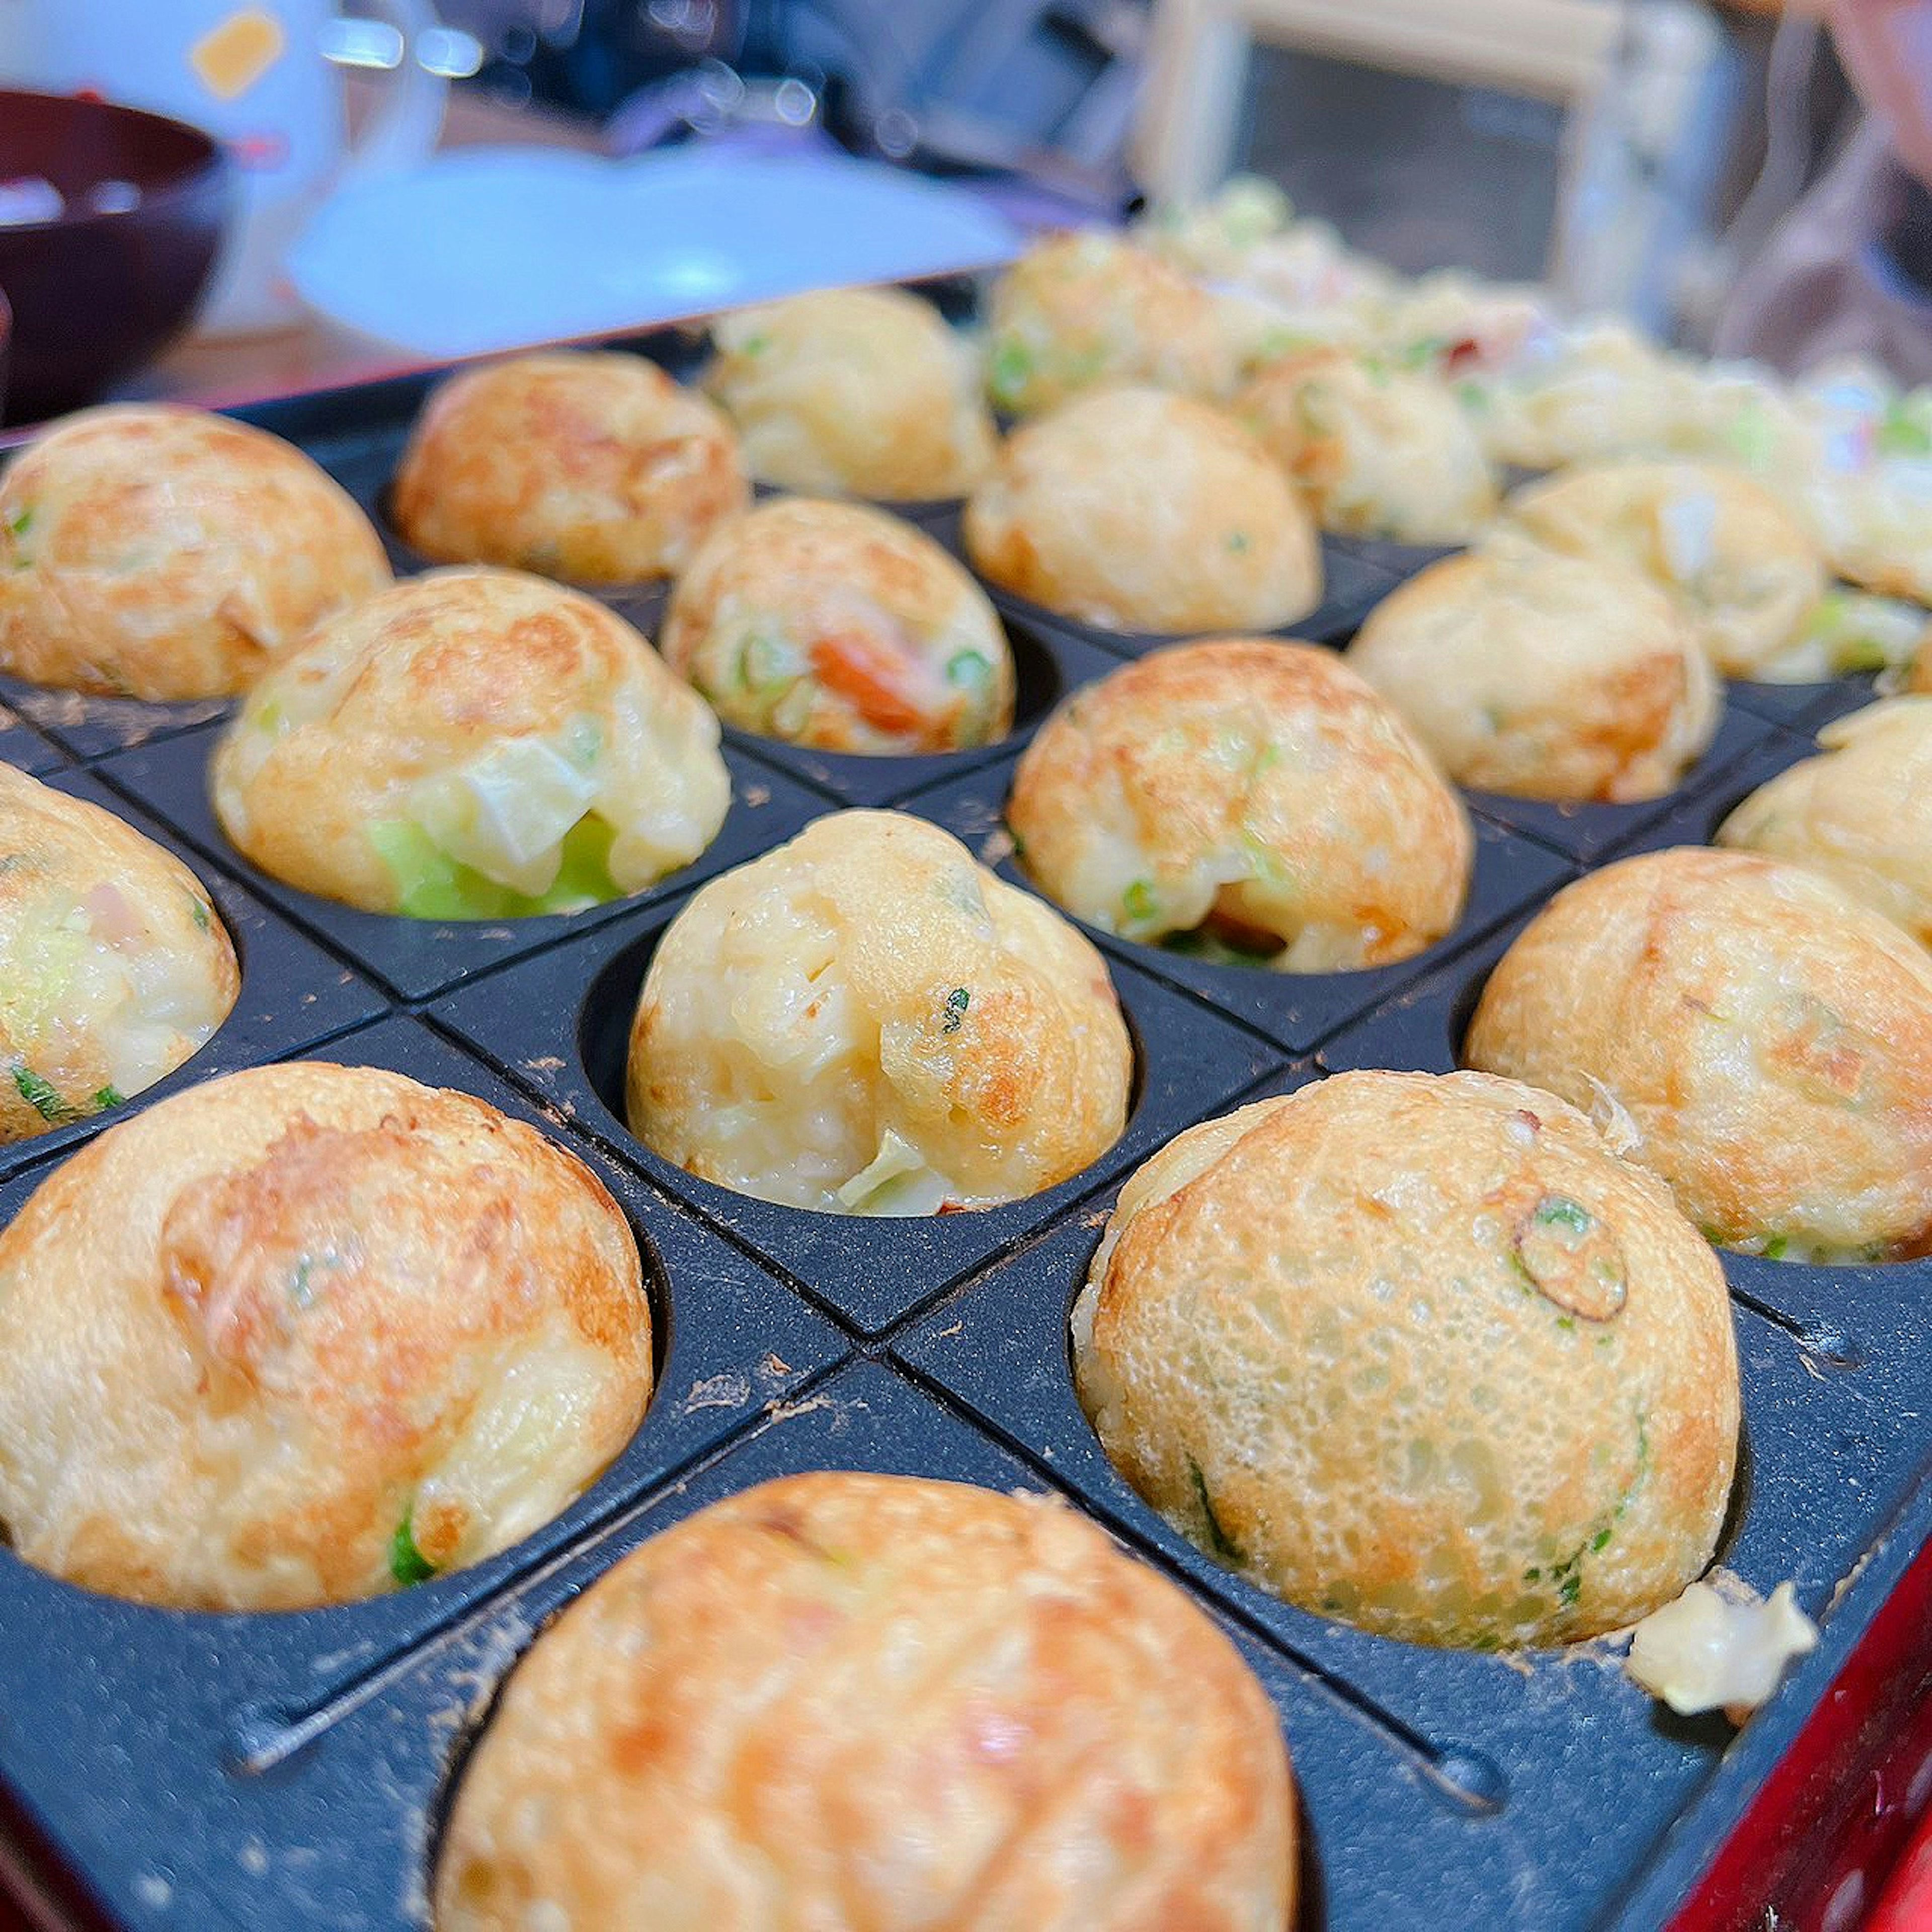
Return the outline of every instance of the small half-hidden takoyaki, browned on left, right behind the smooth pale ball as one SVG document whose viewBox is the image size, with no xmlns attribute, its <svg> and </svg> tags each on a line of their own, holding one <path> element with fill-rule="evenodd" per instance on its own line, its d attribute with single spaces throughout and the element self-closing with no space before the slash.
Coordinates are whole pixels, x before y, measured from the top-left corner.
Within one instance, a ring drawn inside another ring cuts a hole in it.
<svg viewBox="0 0 1932 1932">
<path fill-rule="evenodd" d="M 1495 510 L 1495 471 L 1453 390 L 1347 350 L 1269 363 L 1238 415 L 1306 497 L 1354 537 L 1463 543 Z"/>
</svg>

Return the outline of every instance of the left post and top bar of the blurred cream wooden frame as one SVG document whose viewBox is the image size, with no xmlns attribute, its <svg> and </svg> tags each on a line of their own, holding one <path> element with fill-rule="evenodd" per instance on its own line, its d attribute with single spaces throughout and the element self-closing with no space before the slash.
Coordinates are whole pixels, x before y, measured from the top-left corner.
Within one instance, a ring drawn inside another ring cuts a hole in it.
<svg viewBox="0 0 1932 1932">
<path fill-rule="evenodd" d="M 1577 106 L 1613 66 L 1621 15 L 1621 0 L 1153 0 L 1136 168 L 1155 201 L 1229 174 L 1258 41 Z"/>
</svg>

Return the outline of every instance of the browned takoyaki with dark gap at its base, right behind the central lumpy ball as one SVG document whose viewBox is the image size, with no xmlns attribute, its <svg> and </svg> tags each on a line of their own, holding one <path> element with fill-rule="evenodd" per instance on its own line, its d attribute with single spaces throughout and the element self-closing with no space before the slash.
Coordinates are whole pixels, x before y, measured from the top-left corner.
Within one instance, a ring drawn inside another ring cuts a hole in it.
<svg viewBox="0 0 1932 1932">
<path fill-rule="evenodd" d="M 1057 904 L 1275 972 L 1408 958 L 1463 912 L 1461 800 L 1333 651 L 1180 643 L 1076 692 L 1007 823 Z"/>
</svg>

